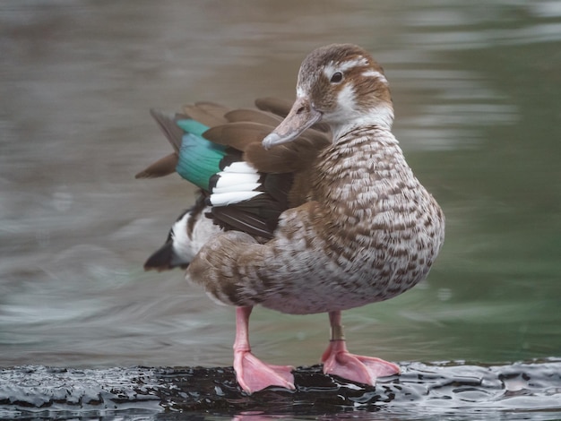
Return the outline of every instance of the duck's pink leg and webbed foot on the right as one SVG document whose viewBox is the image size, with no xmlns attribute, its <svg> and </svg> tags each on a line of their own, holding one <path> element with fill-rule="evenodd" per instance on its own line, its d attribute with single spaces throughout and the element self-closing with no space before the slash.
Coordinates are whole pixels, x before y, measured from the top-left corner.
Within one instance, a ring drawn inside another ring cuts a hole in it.
<svg viewBox="0 0 561 421">
<path fill-rule="evenodd" d="M 400 374 L 400 367 L 380 358 L 350 354 L 345 345 L 341 312 L 330 312 L 332 339 L 322 356 L 324 374 L 334 374 L 353 382 L 375 385 L 377 377 Z"/>
</svg>

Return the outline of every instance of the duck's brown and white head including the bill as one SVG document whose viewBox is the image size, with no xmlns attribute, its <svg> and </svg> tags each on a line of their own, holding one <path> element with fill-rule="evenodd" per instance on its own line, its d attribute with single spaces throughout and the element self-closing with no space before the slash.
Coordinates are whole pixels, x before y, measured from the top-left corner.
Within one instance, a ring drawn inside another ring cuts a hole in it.
<svg viewBox="0 0 561 421">
<path fill-rule="evenodd" d="M 265 149 L 293 141 L 320 121 L 331 126 L 333 142 L 356 126 L 392 127 L 392 96 L 384 70 L 353 44 L 319 47 L 306 56 L 296 93 L 289 115 L 263 139 Z"/>
</svg>

